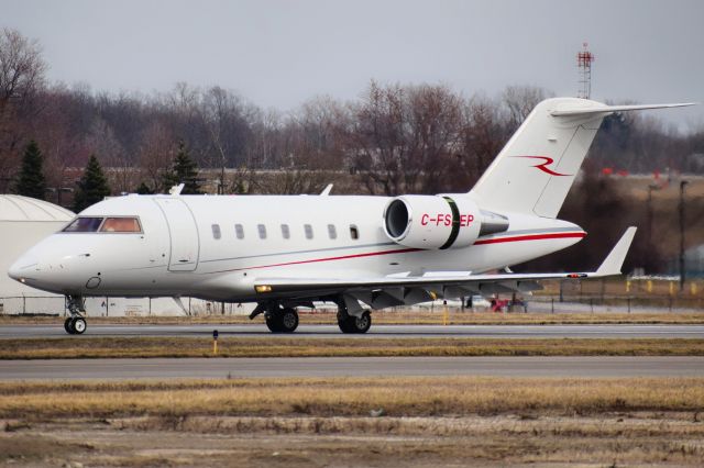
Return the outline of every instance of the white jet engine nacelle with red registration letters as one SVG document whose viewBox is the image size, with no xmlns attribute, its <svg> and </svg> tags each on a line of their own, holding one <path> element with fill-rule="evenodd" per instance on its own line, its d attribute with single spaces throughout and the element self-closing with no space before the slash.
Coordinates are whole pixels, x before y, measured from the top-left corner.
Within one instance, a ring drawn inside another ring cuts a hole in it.
<svg viewBox="0 0 704 468">
<path fill-rule="evenodd" d="M 402 196 L 384 210 L 386 235 L 411 248 L 469 247 L 480 235 L 507 229 L 505 216 L 480 210 L 465 196 Z"/>
</svg>

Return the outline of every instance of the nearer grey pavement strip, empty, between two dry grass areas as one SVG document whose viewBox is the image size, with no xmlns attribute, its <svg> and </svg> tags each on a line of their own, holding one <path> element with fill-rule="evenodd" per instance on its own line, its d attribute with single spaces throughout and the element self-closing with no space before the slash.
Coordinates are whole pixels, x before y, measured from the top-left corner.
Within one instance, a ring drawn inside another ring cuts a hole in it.
<svg viewBox="0 0 704 468">
<path fill-rule="evenodd" d="M 704 357 L 333 357 L 2 360 L 0 381 L 242 377 L 701 377 Z"/>
</svg>

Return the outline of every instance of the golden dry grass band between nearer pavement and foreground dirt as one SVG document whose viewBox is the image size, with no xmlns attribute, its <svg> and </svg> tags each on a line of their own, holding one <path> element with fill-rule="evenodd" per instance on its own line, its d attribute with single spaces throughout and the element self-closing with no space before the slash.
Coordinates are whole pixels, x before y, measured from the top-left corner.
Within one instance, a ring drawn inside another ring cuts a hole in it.
<svg viewBox="0 0 704 468">
<path fill-rule="evenodd" d="M 704 410 L 703 378 L 296 378 L 0 383 L 0 417 L 438 416 Z M 696 415 L 695 415 L 696 417 Z"/>
</svg>

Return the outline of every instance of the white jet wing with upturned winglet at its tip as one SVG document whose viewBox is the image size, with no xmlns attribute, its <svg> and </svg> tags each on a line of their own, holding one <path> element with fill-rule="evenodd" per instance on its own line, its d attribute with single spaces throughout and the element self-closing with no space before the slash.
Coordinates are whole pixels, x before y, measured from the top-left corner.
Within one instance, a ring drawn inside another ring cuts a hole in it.
<svg viewBox="0 0 704 468">
<path fill-rule="evenodd" d="M 596 271 L 557 274 L 427 272 L 422 276 L 393 275 L 369 278 L 256 278 L 254 288 L 263 298 L 311 297 L 343 293 L 373 308 L 413 304 L 438 297 L 459 298 L 471 294 L 493 294 L 541 289 L 540 280 L 566 280 L 620 275 L 620 268 L 636 234 L 628 227 Z M 349 304 L 348 304 L 349 305 Z"/>
</svg>

